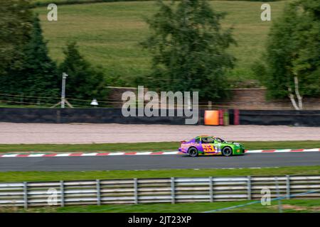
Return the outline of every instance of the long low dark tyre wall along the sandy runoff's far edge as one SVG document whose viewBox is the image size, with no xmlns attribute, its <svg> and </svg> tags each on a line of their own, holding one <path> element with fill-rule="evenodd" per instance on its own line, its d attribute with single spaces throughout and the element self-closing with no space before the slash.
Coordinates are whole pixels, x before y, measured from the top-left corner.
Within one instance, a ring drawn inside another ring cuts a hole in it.
<svg viewBox="0 0 320 227">
<path fill-rule="evenodd" d="M 238 121 L 229 110 L 231 125 Z M 168 112 L 168 110 L 167 110 Z M 204 109 L 198 112 L 198 125 L 204 125 Z M 240 125 L 320 126 L 320 111 L 240 110 Z M 186 116 L 122 116 L 121 109 L 0 108 L 0 122 L 13 123 L 127 123 L 184 125 Z"/>
</svg>

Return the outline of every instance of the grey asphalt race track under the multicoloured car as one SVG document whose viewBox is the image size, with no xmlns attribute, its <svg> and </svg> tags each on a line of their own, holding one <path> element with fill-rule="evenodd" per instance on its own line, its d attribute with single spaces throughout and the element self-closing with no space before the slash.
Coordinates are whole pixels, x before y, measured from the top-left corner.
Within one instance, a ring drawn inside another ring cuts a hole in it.
<svg viewBox="0 0 320 227">
<path fill-rule="evenodd" d="M 126 155 L 100 157 L 5 157 L 0 171 L 161 170 L 320 165 L 320 152 L 250 153 L 243 156 Z"/>
</svg>

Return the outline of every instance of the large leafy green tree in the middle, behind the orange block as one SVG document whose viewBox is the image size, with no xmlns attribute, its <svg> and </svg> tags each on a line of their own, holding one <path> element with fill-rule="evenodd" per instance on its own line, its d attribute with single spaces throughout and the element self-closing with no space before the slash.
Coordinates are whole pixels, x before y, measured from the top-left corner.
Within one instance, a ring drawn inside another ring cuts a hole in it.
<svg viewBox="0 0 320 227">
<path fill-rule="evenodd" d="M 198 91 L 202 100 L 228 96 L 225 71 L 234 57 L 226 49 L 234 40 L 223 31 L 225 15 L 210 8 L 206 0 L 157 1 L 159 11 L 146 22 L 151 35 L 142 42 L 153 55 L 148 87 L 176 91 Z"/>
</svg>

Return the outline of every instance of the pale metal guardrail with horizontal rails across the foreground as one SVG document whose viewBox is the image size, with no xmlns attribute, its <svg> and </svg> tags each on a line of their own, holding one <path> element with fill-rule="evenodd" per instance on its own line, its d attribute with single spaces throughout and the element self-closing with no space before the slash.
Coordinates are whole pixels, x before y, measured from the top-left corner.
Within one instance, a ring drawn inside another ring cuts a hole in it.
<svg viewBox="0 0 320 227">
<path fill-rule="evenodd" d="M 0 183 L 0 206 L 180 203 L 271 198 L 320 189 L 320 175 L 277 177 L 171 177 Z M 320 193 L 295 198 L 319 198 Z"/>
</svg>

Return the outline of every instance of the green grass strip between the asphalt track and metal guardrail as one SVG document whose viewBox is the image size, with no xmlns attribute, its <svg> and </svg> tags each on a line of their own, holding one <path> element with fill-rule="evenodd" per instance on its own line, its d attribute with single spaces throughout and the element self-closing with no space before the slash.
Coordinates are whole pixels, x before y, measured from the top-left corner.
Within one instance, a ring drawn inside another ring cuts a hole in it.
<svg viewBox="0 0 320 227">
<path fill-rule="evenodd" d="M 247 175 L 319 175 L 320 165 L 302 167 L 263 167 L 243 169 L 201 170 L 110 170 L 110 171 L 53 171 L 53 172 L 0 172 L 0 182 L 126 179 L 165 177 L 230 177 Z"/>
</svg>

